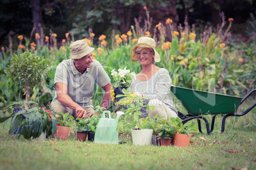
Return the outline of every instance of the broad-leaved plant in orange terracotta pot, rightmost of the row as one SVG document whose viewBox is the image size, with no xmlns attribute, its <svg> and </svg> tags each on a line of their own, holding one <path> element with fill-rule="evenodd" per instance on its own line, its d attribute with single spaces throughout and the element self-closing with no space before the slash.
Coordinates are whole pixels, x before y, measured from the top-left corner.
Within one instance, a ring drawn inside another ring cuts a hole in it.
<svg viewBox="0 0 256 170">
<path fill-rule="evenodd" d="M 183 125 L 179 117 L 171 117 L 171 122 L 177 132 L 174 134 L 173 140 L 171 141 L 172 145 L 176 147 L 188 147 L 191 133 L 197 131 L 197 126 L 193 121 L 188 121 Z"/>
</svg>

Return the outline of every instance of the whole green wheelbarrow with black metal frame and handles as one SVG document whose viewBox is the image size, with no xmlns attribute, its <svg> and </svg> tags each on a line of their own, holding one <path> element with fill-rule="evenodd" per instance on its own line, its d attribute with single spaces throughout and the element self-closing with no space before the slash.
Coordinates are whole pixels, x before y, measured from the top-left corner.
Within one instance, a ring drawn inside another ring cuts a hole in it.
<svg viewBox="0 0 256 170">
<path fill-rule="evenodd" d="M 253 103 L 245 112 L 237 114 L 239 105 L 243 103 L 256 89 L 249 91 L 244 98 L 222 95 L 218 93 L 211 93 L 206 91 L 200 91 L 196 89 L 180 88 L 176 86 L 171 86 L 171 91 L 173 94 L 181 101 L 182 105 L 186 108 L 188 114 L 184 115 L 178 112 L 178 117 L 182 119 L 183 124 L 192 119 L 197 119 L 198 129 L 201 130 L 201 121 L 203 119 L 206 123 L 206 131 L 210 134 L 213 131 L 215 117 L 218 114 L 225 114 L 222 119 L 222 133 L 225 130 L 225 119 L 230 116 L 243 116 L 246 115 L 250 110 L 252 110 L 256 102 Z M 211 129 L 207 119 L 203 115 L 213 115 L 211 120 Z"/>
</svg>

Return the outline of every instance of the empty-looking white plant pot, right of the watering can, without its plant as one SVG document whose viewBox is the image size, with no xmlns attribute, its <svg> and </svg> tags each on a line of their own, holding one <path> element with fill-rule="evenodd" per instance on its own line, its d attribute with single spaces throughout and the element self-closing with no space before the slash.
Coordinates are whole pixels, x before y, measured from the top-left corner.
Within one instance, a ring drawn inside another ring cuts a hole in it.
<svg viewBox="0 0 256 170">
<path fill-rule="evenodd" d="M 153 129 L 132 129 L 132 143 L 134 145 L 151 145 Z"/>
</svg>

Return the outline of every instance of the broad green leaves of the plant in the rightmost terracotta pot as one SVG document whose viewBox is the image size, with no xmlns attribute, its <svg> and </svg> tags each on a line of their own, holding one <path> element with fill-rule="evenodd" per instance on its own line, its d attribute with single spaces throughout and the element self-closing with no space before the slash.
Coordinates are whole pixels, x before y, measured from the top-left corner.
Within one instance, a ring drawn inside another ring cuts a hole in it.
<svg viewBox="0 0 256 170">
<path fill-rule="evenodd" d="M 176 129 L 177 133 L 190 135 L 197 131 L 197 126 L 193 121 L 188 121 L 184 125 L 179 117 L 171 117 L 172 126 Z"/>
</svg>

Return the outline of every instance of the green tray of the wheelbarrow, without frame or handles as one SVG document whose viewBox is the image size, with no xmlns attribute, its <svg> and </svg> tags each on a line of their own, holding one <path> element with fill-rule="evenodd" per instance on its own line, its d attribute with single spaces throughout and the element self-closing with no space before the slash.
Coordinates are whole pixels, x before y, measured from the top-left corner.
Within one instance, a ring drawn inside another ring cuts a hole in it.
<svg viewBox="0 0 256 170">
<path fill-rule="evenodd" d="M 189 114 L 234 114 L 243 98 L 171 86 L 171 91 L 181 101 Z"/>
</svg>

